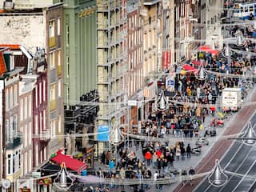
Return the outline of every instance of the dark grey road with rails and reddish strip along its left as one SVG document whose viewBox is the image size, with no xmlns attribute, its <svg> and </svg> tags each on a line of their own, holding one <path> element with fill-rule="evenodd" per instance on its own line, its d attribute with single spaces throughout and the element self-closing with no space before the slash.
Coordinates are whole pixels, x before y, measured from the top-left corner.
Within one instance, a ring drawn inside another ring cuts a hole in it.
<svg viewBox="0 0 256 192">
<path fill-rule="evenodd" d="M 250 120 L 256 108 L 254 103 L 256 101 L 255 90 L 251 91 L 249 98 L 247 98 L 246 100 L 247 103 L 251 102 L 251 105 L 245 105 L 242 107 L 241 110 L 239 110 L 238 114 L 233 117 L 232 121 L 230 121 L 230 124 L 226 127 L 226 130 L 222 135 L 238 134 L 246 125 L 246 122 Z M 252 118 L 253 126 L 255 121 L 256 120 Z M 234 145 L 232 145 L 233 143 Z M 248 175 L 254 173 L 255 175 L 254 160 L 256 159 L 256 157 L 254 150 L 254 147 L 241 146 L 241 143 L 226 139 L 220 139 L 214 144 L 210 151 L 208 151 L 208 154 L 205 156 L 205 158 L 202 158 L 202 161 L 198 163 L 198 166 L 196 167 L 196 173 L 205 173 L 212 170 L 215 164 L 215 159 L 221 159 L 223 155 L 226 154 L 225 158 L 223 158 L 221 162 L 221 166 L 226 167 L 226 169 L 230 170 L 231 172 L 238 172 Z M 241 156 L 239 155 L 238 159 L 236 157 L 231 159 L 234 154 L 241 154 Z M 232 190 L 249 191 L 250 186 L 252 186 L 254 183 L 250 181 L 251 179 L 246 177 L 237 177 L 233 175 L 233 177 L 230 178 L 230 182 L 223 186 L 222 190 L 220 190 L 219 187 L 216 188 L 210 186 L 210 184 L 207 183 L 208 181 L 206 180 L 206 178 L 198 178 L 193 181 L 193 186 L 178 185 L 174 192 Z"/>
</svg>

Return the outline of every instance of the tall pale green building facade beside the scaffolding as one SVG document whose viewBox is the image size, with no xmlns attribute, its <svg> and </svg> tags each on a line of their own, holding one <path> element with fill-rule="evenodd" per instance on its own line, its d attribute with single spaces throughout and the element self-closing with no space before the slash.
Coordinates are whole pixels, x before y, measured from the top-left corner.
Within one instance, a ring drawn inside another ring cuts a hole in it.
<svg viewBox="0 0 256 192">
<path fill-rule="evenodd" d="M 64 102 L 97 89 L 96 1 L 64 0 Z"/>
</svg>

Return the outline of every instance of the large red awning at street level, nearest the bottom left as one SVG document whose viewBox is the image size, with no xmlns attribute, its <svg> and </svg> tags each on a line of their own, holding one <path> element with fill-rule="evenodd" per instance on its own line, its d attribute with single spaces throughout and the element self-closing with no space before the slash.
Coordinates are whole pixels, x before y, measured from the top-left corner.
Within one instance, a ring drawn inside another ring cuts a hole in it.
<svg viewBox="0 0 256 192">
<path fill-rule="evenodd" d="M 78 173 L 87 168 L 86 163 L 80 162 L 78 161 L 78 159 L 75 158 L 70 158 L 70 156 L 62 154 L 61 151 L 58 151 L 57 155 L 54 158 L 51 158 L 51 160 L 54 162 L 58 162 L 59 164 L 62 164 L 62 162 L 64 162 L 66 168 L 74 170 Z"/>
</svg>

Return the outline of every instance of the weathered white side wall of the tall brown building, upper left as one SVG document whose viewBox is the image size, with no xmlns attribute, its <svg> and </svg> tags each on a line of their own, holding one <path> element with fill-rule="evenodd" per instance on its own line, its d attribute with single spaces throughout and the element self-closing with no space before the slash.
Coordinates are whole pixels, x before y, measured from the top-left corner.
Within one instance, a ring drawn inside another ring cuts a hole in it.
<svg viewBox="0 0 256 192">
<path fill-rule="evenodd" d="M 0 28 L 4 29 L 0 33 L 0 44 L 22 45 L 33 53 L 36 46 L 46 47 L 46 21 L 43 15 L 0 14 L 0 20 Z"/>
</svg>

